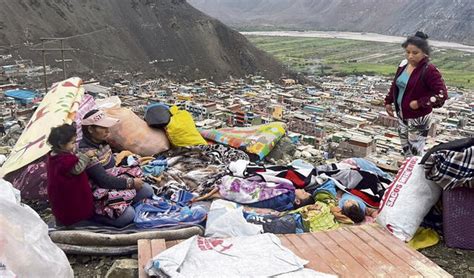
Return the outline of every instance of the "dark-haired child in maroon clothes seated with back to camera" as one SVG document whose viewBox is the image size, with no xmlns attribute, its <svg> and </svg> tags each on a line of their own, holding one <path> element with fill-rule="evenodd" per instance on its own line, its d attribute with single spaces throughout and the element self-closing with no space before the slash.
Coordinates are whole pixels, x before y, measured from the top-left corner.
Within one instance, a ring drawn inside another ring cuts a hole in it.
<svg viewBox="0 0 474 278">
<path fill-rule="evenodd" d="M 47 160 L 48 198 L 60 225 L 72 225 L 94 214 L 92 190 L 84 172 L 95 152 L 74 154 L 76 127 L 63 124 L 51 129 Z"/>
</svg>

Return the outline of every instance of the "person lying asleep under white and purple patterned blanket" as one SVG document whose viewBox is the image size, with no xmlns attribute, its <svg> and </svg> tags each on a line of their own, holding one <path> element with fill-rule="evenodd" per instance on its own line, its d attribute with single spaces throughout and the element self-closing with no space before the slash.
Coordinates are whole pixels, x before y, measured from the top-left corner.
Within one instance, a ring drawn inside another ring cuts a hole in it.
<svg viewBox="0 0 474 278">
<path fill-rule="evenodd" d="M 245 179 L 224 176 L 209 193 L 193 201 L 210 199 L 225 199 L 250 207 L 278 211 L 314 204 L 311 194 L 304 189 L 296 189 L 291 181 L 264 174 Z"/>
</svg>

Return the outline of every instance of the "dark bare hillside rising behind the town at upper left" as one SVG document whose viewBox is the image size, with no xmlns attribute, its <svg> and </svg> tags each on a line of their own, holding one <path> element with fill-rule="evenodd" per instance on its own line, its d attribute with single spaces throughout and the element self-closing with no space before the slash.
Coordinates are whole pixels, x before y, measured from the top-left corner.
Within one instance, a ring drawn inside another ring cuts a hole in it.
<svg viewBox="0 0 474 278">
<path fill-rule="evenodd" d="M 188 80 L 282 73 L 245 37 L 184 0 L 0 0 L 0 7 L 0 54 L 35 64 L 41 53 L 31 49 L 41 47 L 41 37 L 65 37 L 76 72 L 135 70 Z M 51 52 L 47 63 L 59 58 Z"/>
</svg>

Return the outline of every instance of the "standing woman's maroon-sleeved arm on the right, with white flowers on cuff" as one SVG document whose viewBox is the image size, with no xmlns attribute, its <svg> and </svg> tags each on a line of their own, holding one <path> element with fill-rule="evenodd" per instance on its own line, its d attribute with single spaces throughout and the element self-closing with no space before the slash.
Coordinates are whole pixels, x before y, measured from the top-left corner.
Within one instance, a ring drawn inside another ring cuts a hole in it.
<svg viewBox="0 0 474 278">
<path fill-rule="evenodd" d="M 443 77 L 434 65 L 429 65 L 425 78 L 425 84 L 432 93 L 431 96 L 422 97 L 418 99 L 418 106 L 427 107 L 441 107 L 448 99 L 448 89 L 444 84 Z"/>
</svg>

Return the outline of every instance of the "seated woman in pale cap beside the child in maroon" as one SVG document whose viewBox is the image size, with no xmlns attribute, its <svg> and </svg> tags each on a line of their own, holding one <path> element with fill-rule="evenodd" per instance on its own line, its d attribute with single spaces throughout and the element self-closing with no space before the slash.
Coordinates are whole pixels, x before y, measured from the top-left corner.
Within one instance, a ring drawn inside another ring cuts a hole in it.
<svg viewBox="0 0 474 278">
<path fill-rule="evenodd" d="M 97 159 L 87 166 L 95 201 L 95 220 L 107 225 L 124 227 L 133 222 L 135 204 L 153 196 L 152 187 L 141 178 L 117 177 L 115 158 L 106 143 L 109 128 L 118 122 L 100 110 L 88 112 L 82 120 L 82 152 L 96 151 Z"/>
</svg>

